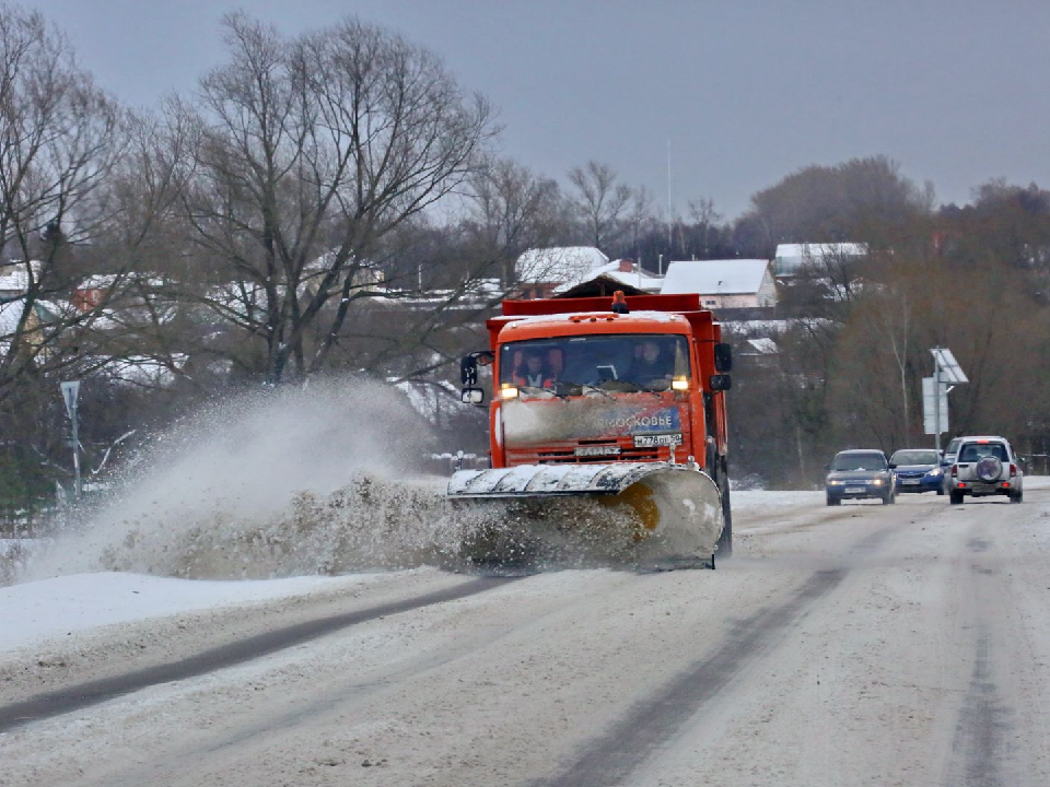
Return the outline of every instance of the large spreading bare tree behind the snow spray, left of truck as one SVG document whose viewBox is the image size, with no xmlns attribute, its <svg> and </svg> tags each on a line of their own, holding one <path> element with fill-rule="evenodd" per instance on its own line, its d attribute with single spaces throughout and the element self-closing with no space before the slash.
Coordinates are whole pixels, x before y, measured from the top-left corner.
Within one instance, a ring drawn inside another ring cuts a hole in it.
<svg viewBox="0 0 1050 787">
<path fill-rule="evenodd" d="M 230 61 L 180 108 L 182 209 L 220 279 L 207 304 L 261 344 L 246 368 L 279 381 L 350 338 L 384 278 L 375 249 L 474 172 L 490 113 L 429 51 L 353 19 L 296 39 L 243 14 L 224 26 Z"/>
</svg>

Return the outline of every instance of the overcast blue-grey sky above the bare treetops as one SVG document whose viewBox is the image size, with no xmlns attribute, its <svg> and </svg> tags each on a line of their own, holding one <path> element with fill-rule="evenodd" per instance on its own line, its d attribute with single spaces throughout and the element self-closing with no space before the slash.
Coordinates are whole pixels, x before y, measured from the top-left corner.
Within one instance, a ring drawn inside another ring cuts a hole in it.
<svg viewBox="0 0 1050 787">
<path fill-rule="evenodd" d="M 25 0 L 128 103 L 192 90 L 242 9 L 289 33 L 346 14 L 486 94 L 503 153 L 564 181 L 594 158 L 666 208 L 735 218 L 808 164 L 885 154 L 942 202 L 1050 187 L 1047 0 Z"/>
</svg>

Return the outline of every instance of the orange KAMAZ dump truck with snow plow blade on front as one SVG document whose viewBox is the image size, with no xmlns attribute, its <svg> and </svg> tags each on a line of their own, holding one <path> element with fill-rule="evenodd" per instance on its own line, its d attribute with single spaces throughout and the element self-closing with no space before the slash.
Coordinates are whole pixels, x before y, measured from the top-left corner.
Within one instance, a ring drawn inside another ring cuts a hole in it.
<svg viewBox="0 0 1050 787">
<path fill-rule="evenodd" d="M 463 401 L 492 368 L 491 468 L 458 470 L 454 505 L 606 512 L 646 562 L 714 567 L 733 548 L 726 474 L 732 352 L 696 294 L 504 301 L 490 349 L 463 359 Z M 515 515 L 516 520 L 523 518 Z M 527 519 L 527 517 L 525 518 Z"/>
</svg>

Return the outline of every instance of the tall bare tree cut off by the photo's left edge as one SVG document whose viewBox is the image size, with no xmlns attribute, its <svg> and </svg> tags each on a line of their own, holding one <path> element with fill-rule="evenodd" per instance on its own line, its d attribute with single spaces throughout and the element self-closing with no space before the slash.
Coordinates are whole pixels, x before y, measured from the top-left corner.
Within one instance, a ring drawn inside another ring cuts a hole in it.
<svg viewBox="0 0 1050 787">
<path fill-rule="evenodd" d="M 124 121 L 40 14 L 0 7 L 0 243 L 18 260 L 3 272 L 20 280 L 0 304 L 0 400 L 28 373 L 104 362 L 92 333 L 102 304 L 70 303 L 71 266 L 118 210 L 107 178 Z"/>
</svg>

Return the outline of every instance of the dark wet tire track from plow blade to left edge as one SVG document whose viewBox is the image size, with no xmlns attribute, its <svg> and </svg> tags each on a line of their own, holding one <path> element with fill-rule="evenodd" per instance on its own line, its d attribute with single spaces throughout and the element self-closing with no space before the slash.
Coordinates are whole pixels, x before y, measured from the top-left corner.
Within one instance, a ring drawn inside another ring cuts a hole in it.
<svg viewBox="0 0 1050 787">
<path fill-rule="evenodd" d="M 436 590 L 423 596 L 277 629 L 211 648 L 178 661 L 38 694 L 28 700 L 0 706 L 0 735 L 32 721 L 80 710 L 152 685 L 197 678 L 228 667 L 242 665 L 359 623 L 476 596 L 508 583 L 516 582 L 518 578 L 479 577 L 456 587 Z"/>
</svg>

